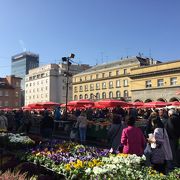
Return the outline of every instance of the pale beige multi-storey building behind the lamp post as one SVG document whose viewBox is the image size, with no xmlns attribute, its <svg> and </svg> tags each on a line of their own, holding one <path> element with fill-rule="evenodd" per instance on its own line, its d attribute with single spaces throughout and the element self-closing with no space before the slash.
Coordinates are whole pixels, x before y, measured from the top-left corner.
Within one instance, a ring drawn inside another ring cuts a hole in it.
<svg viewBox="0 0 180 180">
<path fill-rule="evenodd" d="M 70 66 L 73 75 L 89 68 L 88 65 Z M 67 65 L 48 64 L 29 71 L 25 78 L 25 105 L 53 101 L 65 103 L 67 78 L 64 76 Z M 72 77 L 68 83 L 68 101 L 72 100 Z"/>
</svg>

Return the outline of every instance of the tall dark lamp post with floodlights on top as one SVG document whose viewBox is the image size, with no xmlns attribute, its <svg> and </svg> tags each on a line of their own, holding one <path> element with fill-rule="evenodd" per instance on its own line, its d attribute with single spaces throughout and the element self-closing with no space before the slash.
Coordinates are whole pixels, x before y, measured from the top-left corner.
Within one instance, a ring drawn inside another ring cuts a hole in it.
<svg viewBox="0 0 180 180">
<path fill-rule="evenodd" d="M 62 61 L 66 62 L 67 67 L 66 71 L 64 72 L 64 76 L 66 77 L 66 109 L 65 109 L 65 119 L 67 120 L 67 103 L 68 103 L 68 92 L 69 92 L 69 77 L 72 76 L 72 74 L 69 72 L 69 67 L 72 64 L 72 60 L 75 57 L 74 54 L 70 54 L 69 57 L 62 57 Z"/>
</svg>

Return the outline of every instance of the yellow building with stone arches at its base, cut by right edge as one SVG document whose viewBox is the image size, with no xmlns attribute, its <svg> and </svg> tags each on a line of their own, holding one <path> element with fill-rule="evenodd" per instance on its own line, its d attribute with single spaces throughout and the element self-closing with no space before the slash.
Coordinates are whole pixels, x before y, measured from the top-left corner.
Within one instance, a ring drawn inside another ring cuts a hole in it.
<svg viewBox="0 0 180 180">
<path fill-rule="evenodd" d="M 180 60 L 132 68 L 132 101 L 180 101 Z"/>
</svg>

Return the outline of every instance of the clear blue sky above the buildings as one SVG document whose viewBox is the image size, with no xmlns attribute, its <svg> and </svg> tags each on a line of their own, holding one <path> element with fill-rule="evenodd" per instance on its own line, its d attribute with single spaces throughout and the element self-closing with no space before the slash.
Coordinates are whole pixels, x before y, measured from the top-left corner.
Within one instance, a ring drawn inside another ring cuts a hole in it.
<svg viewBox="0 0 180 180">
<path fill-rule="evenodd" d="M 41 64 L 70 53 L 94 65 L 135 56 L 180 59 L 179 0 L 1 0 L 0 77 L 24 49 Z"/>
</svg>

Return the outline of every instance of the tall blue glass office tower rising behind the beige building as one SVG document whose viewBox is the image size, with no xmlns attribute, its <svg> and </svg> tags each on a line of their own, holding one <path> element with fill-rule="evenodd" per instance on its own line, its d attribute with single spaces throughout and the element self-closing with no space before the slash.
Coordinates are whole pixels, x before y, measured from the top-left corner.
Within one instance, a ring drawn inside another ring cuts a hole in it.
<svg viewBox="0 0 180 180">
<path fill-rule="evenodd" d="M 25 89 L 25 75 L 29 73 L 30 69 L 39 67 L 39 55 L 31 52 L 23 52 L 12 56 L 11 58 L 11 74 L 22 78 L 22 105 L 24 105 L 24 89 Z"/>
</svg>

